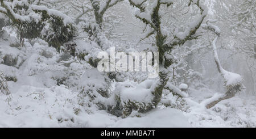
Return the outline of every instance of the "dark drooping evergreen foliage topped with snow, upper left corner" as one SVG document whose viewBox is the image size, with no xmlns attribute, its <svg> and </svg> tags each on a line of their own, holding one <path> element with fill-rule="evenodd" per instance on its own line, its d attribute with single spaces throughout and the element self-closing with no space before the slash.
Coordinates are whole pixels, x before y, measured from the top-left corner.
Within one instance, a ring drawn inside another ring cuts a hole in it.
<svg viewBox="0 0 256 139">
<path fill-rule="evenodd" d="M 32 4 L 31 1 L 1 1 L 0 12 L 8 16 L 21 38 L 40 37 L 59 49 L 76 35 L 72 19 L 57 10 Z"/>
</svg>

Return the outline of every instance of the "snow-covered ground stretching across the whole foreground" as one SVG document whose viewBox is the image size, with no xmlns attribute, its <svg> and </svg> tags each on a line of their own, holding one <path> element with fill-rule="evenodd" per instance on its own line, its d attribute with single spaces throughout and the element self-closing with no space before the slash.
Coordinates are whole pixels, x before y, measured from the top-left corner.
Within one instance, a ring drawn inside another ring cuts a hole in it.
<svg viewBox="0 0 256 139">
<path fill-rule="evenodd" d="M 212 109 L 197 105 L 189 112 L 155 108 L 142 117 L 122 119 L 95 107 L 80 106 L 78 94 L 64 85 L 22 85 L 11 100 L 0 95 L 0 127 L 256 127 L 256 98 L 241 95 Z"/>
</svg>

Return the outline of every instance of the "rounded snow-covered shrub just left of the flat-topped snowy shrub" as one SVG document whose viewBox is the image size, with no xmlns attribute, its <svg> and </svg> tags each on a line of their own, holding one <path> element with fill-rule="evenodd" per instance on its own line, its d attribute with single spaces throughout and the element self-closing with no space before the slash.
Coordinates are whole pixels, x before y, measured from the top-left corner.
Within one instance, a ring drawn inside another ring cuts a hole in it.
<svg viewBox="0 0 256 139">
<path fill-rule="evenodd" d="M 111 81 L 106 73 L 100 73 L 94 68 L 86 70 L 77 86 L 80 92 L 80 105 L 84 106 L 86 103 L 90 107 L 96 104 L 98 109 L 104 109 L 113 115 L 121 116 L 118 96 L 110 94 L 110 87 Z"/>
</svg>

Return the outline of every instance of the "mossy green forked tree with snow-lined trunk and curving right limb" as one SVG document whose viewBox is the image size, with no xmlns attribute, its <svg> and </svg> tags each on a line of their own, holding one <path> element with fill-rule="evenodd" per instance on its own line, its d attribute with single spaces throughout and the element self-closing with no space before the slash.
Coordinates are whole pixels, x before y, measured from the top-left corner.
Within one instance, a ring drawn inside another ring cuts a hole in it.
<svg viewBox="0 0 256 139">
<path fill-rule="evenodd" d="M 155 88 L 152 89 L 151 93 L 154 96 L 152 99 L 153 106 L 156 106 L 160 99 L 162 98 L 162 93 L 164 87 L 174 92 L 174 94 L 179 94 L 179 89 L 177 87 L 170 85 L 168 83 L 168 68 L 174 63 L 170 53 L 176 45 L 183 45 L 188 40 L 196 39 L 196 31 L 200 28 L 201 23 L 203 22 L 205 16 L 207 15 L 207 7 L 202 5 L 200 1 L 189 1 L 188 6 L 195 5 L 200 9 L 200 16 L 198 19 L 195 19 L 195 22 L 189 24 L 189 27 L 184 32 L 179 32 L 175 34 L 174 39 L 170 42 L 167 42 L 167 36 L 163 32 L 161 26 L 161 7 L 167 6 L 170 7 L 175 1 L 164 1 L 164 0 L 155 0 L 155 1 L 133 1 L 129 0 L 130 4 L 138 9 L 135 16 L 145 23 L 149 28 L 146 32 L 146 37 L 154 35 L 155 45 L 159 52 L 159 81 L 156 83 Z M 143 39 L 145 39 L 143 38 Z M 180 94 L 179 94 L 180 95 Z M 184 96 L 181 94 L 181 96 Z M 130 104 L 130 107 L 133 107 L 133 103 Z M 150 110 L 152 107 L 148 107 L 146 111 Z"/>
</svg>

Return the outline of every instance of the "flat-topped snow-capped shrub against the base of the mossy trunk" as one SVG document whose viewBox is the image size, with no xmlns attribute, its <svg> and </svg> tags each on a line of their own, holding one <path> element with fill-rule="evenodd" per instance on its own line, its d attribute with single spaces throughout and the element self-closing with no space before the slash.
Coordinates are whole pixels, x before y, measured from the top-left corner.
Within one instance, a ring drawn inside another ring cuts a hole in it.
<svg viewBox="0 0 256 139">
<path fill-rule="evenodd" d="M 123 118 L 131 115 L 133 111 L 146 113 L 153 108 L 156 108 L 160 102 L 159 96 L 156 94 L 159 91 L 159 81 L 146 80 L 141 83 L 133 81 L 119 82 L 115 86 L 114 100 L 115 108 L 121 110 Z"/>
</svg>

